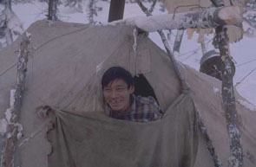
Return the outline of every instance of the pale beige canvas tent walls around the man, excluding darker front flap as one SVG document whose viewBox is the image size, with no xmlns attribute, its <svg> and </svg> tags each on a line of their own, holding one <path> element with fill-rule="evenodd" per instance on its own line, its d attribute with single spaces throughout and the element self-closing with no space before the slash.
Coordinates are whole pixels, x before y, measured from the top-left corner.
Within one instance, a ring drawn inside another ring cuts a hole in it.
<svg viewBox="0 0 256 167">
<path fill-rule="evenodd" d="M 28 32 L 33 35 L 32 44 L 36 50 L 34 56 L 30 58 L 25 83 L 26 89 L 20 117 L 24 136 L 19 140 L 18 145 L 23 145 L 17 148 L 16 164 L 26 167 L 48 166 L 47 155 L 51 151 L 51 146 L 45 138 L 48 129 L 42 127 L 47 125 L 49 119 L 38 117 L 37 106 L 52 106 L 56 110 L 72 111 L 75 115 L 93 115 L 88 116 L 90 118 L 97 117 L 91 112 L 102 112 L 102 94 L 99 82 L 102 73 L 108 67 L 121 66 L 127 68 L 134 75 L 144 74 L 154 89 L 161 109 L 166 111 L 168 106 L 174 104 L 176 98 L 181 95 L 181 87 L 174 73 L 173 65 L 168 60 L 166 53 L 154 42 L 151 42 L 146 35 L 139 35 L 135 42 L 133 29 L 135 28 L 129 26 L 89 27 L 78 23 L 46 21 L 35 22 L 30 26 Z M 15 87 L 15 64 L 17 61 L 15 51 L 19 47 L 19 42 L 18 39 L 0 53 L 0 74 L 2 74 L 0 76 L 0 113 L 2 118 L 3 113 L 9 107 L 10 89 Z M 136 49 L 133 48 L 134 46 Z M 227 166 L 229 146 L 226 120 L 220 91 L 216 91 L 216 89 L 220 90 L 221 83 L 219 80 L 206 74 L 200 74 L 185 65 L 179 64 L 179 67 L 191 87 L 194 103 L 207 126 L 216 152 L 224 166 Z M 237 99 L 242 99 L 239 94 L 237 94 Z M 85 113 L 88 112 L 88 108 L 90 113 Z M 253 167 L 256 164 L 256 126 L 254 125 L 256 113 L 247 110 L 239 103 L 237 109 L 245 154 L 244 164 Z M 187 114 L 185 118 L 190 118 L 184 120 L 194 120 L 194 111 L 182 111 L 185 116 Z M 179 112 L 175 113 L 180 114 Z M 65 119 L 64 114 L 62 115 L 63 119 Z M 97 119 L 103 117 L 101 119 L 102 127 L 112 125 L 113 121 L 118 121 L 111 120 L 109 122 L 109 118 L 103 115 L 97 117 Z M 105 119 L 106 121 L 104 121 Z M 175 120 L 177 119 L 174 119 L 174 125 L 177 125 Z M 194 124 L 194 121 L 191 123 Z M 117 122 L 114 125 L 120 127 L 120 124 L 124 123 Z M 154 128 L 154 124 L 157 123 L 150 123 L 149 126 L 152 125 Z M 170 123 L 170 126 L 174 125 Z M 148 128 L 146 125 L 143 126 Z M 194 125 L 187 125 L 187 127 L 194 127 Z M 183 129 L 183 126 L 176 127 L 177 131 L 182 132 Z M 33 138 L 30 138 L 31 135 Z M 187 135 L 188 137 L 193 136 L 192 134 Z M 24 138 L 30 138 L 29 142 L 24 143 Z M 197 138 L 190 139 L 197 140 Z M 188 140 L 189 138 L 185 141 Z M 192 141 L 192 145 L 189 144 L 190 148 L 193 145 L 196 146 L 194 141 Z M 165 159 L 176 155 L 168 156 Z M 191 154 L 192 158 L 193 156 L 195 157 L 194 166 L 213 166 L 212 157 L 207 151 L 205 140 L 200 133 L 197 153 Z"/>
</svg>

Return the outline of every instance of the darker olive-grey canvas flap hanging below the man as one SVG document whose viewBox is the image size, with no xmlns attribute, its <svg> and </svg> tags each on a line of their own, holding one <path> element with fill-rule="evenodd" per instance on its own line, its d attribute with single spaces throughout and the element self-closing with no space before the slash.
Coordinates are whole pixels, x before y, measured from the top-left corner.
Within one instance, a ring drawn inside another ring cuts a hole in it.
<svg viewBox="0 0 256 167">
<path fill-rule="evenodd" d="M 162 119 L 138 123 L 100 112 L 54 111 L 49 167 L 190 167 L 198 131 L 194 101 L 181 94 Z"/>
</svg>

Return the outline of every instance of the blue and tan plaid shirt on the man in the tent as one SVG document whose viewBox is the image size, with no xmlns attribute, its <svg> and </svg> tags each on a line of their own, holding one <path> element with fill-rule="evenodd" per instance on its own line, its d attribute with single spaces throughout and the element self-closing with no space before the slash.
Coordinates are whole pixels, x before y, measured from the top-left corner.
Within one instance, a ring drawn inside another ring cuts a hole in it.
<svg viewBox="0 0 256 167">
<path fill-rule="evenodd" d="M 109 117 L 138 122 L 148 122 L 161 119 L 162 112 L 153 97 L 131 96 L 131 110 L 129 112 L 109 111 Z"/>
</svg>

